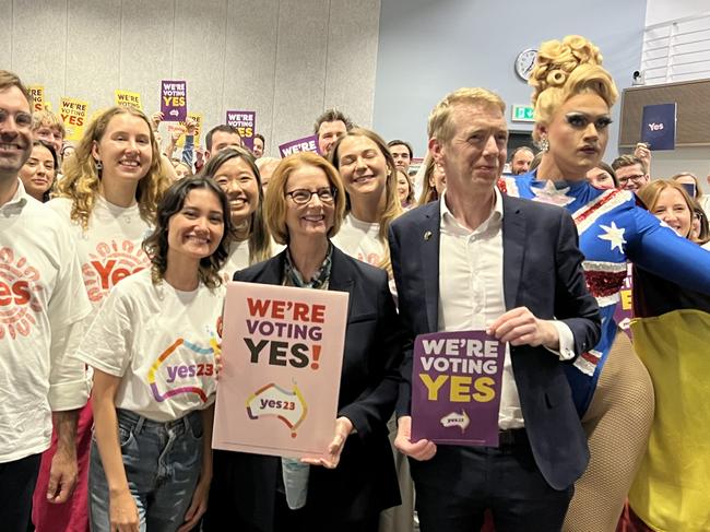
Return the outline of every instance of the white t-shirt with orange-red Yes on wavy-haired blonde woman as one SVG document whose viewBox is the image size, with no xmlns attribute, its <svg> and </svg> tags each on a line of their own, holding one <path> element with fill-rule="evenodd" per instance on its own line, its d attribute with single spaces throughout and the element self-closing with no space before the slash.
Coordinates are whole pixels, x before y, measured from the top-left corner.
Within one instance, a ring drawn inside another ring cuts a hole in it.
<svg viewBox="0 0 710 532">
<path fill-rule="evenodd" d="M 57 198 L 47 205 L 70 224 L 86 294 L 95 310 L 116 283 L 151 265 L 141 248 L 151 226 L 141 217 L 138 203 L 118 206 L 97 194 L 86 230 L 70 220 L 70 199 Z"/>
</svg>

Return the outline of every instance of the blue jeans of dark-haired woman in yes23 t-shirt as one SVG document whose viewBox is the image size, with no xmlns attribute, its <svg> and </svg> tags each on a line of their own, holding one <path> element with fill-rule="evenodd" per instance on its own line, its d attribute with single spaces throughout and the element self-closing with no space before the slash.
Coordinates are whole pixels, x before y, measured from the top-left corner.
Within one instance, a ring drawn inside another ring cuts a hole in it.
<svg viewBox="0 0 710 532">
<path fill-rule="evenodd" d="M 141 532 L 175 531 L 185 521 L 202 469 L 202 413 L 168 423 L 117 410 L 118 438 Z M 96 440 L 88 469 L 91 530 L 110 532 L 109 495 Z"/>
</svg>

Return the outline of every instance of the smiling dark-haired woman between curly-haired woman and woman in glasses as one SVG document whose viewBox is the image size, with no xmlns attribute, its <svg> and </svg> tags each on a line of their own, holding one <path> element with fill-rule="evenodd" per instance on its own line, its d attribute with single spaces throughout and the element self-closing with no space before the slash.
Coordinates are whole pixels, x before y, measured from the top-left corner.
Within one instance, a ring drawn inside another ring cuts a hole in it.
<svg viewBox="0 0 710 532">
<path fill-rule="evenodd" d="M 210 158 L 201 175 L 214 179 L 229 200 L 234 229 L 222 277 L 232 281 L 237 270 L 270 259 L 275 246 L 264 221 L 259 169 L 251 152 L 227 147 Z"/>
</svg>

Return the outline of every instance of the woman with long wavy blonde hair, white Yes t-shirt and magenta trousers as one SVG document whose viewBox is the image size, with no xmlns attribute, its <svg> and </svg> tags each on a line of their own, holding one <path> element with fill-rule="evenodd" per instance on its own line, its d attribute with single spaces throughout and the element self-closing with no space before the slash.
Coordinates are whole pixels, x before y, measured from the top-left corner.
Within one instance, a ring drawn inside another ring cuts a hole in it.
<svg viewBox="0 0 710 532">
<path fill-rule="evenodd" d="M 158 198 L 170 180 L 147 117 L 132 107 L 113 107 L 86 127 L 74 154 L 64 162 L 56 199 L 47 205 L 68 224 L 73 236 L 92 315 L 109 289 L 150 265 L 141 243 L 153 225 Z M 49 465 L 56 444 L 43 456 L 33 500 L 33 522 L 43 532 L 86 530 L 91 403 L 79 414 L 76 488 L 66 505 L 48 504 L 54 485 Z"/>
</svg>

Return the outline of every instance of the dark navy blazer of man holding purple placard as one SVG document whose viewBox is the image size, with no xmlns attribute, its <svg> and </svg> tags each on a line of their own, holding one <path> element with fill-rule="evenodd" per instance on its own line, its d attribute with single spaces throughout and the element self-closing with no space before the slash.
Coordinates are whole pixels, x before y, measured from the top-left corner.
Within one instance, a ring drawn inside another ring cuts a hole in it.
<svg viewBox="0 0 710 532">
<path fill-rule="evenodd" d="M 577 228 L 564 209 L 502 196 L 504 295 L 506 309 L 528 307 L 537 318 L 563 320 L 575 335 L 577 355 L 596 345 L 600 315 L 581 268 Z M 409 415 L 412 346 L 417 334 L 438 330 L 439 202 L 399 217 L 390 228 L 390 251 L 405 331 L 403 385 L 398 415 Z M 563 364 L 544 347 L 511 346 L 516 383 L 535 461 L 556 489 L 570 486 L 587 468 L 589 450 Z M 436 460 L 422 462 L 431 468 Z"/>
</svg>

